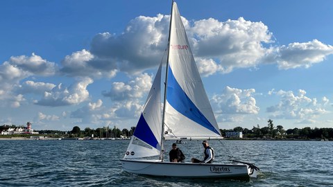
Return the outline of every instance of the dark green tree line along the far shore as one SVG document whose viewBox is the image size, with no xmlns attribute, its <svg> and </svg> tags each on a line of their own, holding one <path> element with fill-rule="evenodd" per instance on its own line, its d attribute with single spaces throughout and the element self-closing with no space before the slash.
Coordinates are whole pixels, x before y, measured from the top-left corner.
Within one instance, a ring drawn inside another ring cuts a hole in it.
<svg viewBox="0 0 333 187">
<path fill-rule="evenodd" d="M 267 125 L 259 127 L 254 125 L 252 129 L 243 127 L 234 127 L 230 130 L 222 130 L 220 132 L 222 136 L 225 136 L 225 132 L 242 132 L 245 139 L 333 139 L 333 128 L 311 128 L 304 127 L 302 129 L 293 128 L 284 130 L 282 125 L 275 125 L 273 121 L 269 119 Z M 2 130 L 8 130 L 8 128 L 24 127 L 23 125 L 2 125 L 0 126 L 0 132 Z M 40 134 L 49 134 L 49 136 L 68 136 L 68 137 L 96 137 L 96 138 L 121 138 L 130 137 L 133 135 L 135 127 L 130 127 L 130 130 L 124 128 L 120 130 L 116 126 L 110 127 L 99 127 L 96 130 L 86 127 L 81 130 L 80 127 L 74 126 L 71 131 L 60 131 L 60 130 L 35 130 Z"/>
</svg>

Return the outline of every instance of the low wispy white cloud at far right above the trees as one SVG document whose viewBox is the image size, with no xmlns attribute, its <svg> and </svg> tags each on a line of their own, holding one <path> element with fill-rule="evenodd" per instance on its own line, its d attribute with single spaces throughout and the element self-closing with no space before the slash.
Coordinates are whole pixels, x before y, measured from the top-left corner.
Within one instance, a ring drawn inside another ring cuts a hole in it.
<svg viewBox="0 0 333 187">
<path fill-rule="evenodd" d="M 266 112 L 271 113 L 273 118 L 302 119 L 302 121 L 314 121 L 320 114 L 328 112 L 323 108 L 327 98 L 324 97 L 322 103 L 318 103 L 316 98 L 308 98 L 306 91 L 299 89 L 297 94 L 293 91 L 270 91 L 271 96 L 280 97 L 277 105 L 266 108 Z"/>
</svg>

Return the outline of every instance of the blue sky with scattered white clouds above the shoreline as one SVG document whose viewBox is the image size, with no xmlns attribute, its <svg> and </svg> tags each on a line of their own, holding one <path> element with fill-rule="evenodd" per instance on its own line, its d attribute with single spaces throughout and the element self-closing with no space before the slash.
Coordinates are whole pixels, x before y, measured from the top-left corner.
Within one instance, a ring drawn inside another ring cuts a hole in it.
<svg viewBox="0 0 333 187">
<path fill-rule="evenodd" d="M 333 1 L 176 1 L 221 129 L 333 127 Z M 171 1 L 0 1 L 0 125 L 136 125 Z"/>
</svg>

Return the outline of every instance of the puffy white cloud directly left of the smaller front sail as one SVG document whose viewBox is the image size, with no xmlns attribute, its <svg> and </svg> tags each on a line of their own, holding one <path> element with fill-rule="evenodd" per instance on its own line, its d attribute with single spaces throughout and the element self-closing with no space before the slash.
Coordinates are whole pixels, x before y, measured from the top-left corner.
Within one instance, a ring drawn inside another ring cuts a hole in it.
<svg viewBox="0 0 333 187">
<path fill-rule="evenodd" d="M 110 91 L 103 96 L 111 98 L 111 107 L 103 107 L 101 100 L 71 112 L 71 118 L 80 118 L 81 123 L 108 123 L 119 119 L 137 118 L 142 111 L 142 98 L 151 88 L 153 75 L 143 73 L 128 82 L 113 82 Z"/>
</svg>

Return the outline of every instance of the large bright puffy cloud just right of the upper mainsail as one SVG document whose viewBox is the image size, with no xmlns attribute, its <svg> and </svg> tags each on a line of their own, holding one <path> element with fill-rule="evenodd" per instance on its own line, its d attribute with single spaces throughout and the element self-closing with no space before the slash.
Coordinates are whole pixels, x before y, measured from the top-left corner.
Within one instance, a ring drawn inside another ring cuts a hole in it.
<svg viewBox="0 0 333 187">
<path fill-rule="evenodd" d="M 216 19 L 195 21 L 188 28 L 196 57 L 214 60 L 216 72 L 230 73 L 234 68 L 257 66 L 267 53 L 263 43 L 273 42 L 272 34 L 262 22 Z M 205 62 L 205 61 L 201 61 Z"/>
</svg>

